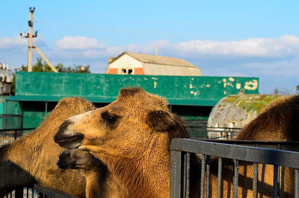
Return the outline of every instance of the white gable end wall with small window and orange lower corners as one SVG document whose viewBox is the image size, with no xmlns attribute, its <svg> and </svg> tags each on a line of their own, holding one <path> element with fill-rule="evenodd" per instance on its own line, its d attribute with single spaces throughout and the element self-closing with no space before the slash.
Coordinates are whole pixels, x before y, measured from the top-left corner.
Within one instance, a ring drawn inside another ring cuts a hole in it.
<svg viewBox="0 0 299 198">
<path fill-rule="evenodd" d="M 144 74 L 141 62 L 124 54 L 122 57 L 109 64 L 107 74 L 121 74 L 122 68 L 130 68 L 133 70 L 132 74 Z"/>
</svg>

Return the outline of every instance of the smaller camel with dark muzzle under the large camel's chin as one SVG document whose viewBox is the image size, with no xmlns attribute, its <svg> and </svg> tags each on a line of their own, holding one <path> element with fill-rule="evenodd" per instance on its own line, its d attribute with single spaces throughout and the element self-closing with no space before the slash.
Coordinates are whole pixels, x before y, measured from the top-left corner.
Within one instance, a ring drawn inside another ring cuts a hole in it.
<svg viewBox="0 0 299 198">
<path fill-rule="evenodd" d="M 65 150 L 59 155 L 57 166 L 61 169 L 76 169 L 85 176 L 86 198 L 120 198 L 120 189 L 100 160 L 89 152 L 79 149 Z"/>
</svg>

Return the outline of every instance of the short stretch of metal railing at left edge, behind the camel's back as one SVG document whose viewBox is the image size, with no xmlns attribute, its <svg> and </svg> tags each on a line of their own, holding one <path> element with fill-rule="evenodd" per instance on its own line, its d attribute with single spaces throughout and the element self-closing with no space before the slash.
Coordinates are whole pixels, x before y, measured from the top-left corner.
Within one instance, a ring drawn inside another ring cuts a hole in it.
<svg viewBox="0 0 299 198">
<path fill-rule="evenodd" d="M 10 142 L 16 140 L 18 137 L 23 135 L 23 133 L 30 132 L 34 128 L 27 129 L 1 129 L 0 130 L 0 145 L 9 144 Z"/>
</svg>

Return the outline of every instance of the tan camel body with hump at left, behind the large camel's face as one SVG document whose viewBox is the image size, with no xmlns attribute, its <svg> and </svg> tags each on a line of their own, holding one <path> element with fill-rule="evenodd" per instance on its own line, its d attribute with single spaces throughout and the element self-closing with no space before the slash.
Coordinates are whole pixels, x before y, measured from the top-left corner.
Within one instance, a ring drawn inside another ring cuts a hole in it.
<svg viewBox="0 0 299 198">
<path fill-rule="evenodd" d="M 64 98 L 40 127 L 0 147 L 0 191 L 39 182 L 66 193 L 85 197 L 85 178 L 75 170 L 62 170 L 56 161 L 63 148 L 53 142 L 59 126 L 70 116 L 96 109 L 82 98 Z"/>
</svg>

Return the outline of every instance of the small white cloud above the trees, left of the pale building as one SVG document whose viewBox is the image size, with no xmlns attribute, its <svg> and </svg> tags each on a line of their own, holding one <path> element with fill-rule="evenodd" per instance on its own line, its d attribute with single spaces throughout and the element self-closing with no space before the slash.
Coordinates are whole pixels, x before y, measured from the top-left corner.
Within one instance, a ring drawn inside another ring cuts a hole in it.
<svg viewBox="0 0 299 198">
<path fill-rule="evenodd" d="M 103 42 L 99 43 L 97 39 L 93 38 L 66 36 L 63 39 L 56 41 L 55 46 L 60 49 L 85 50 L 90 48 L 103 48 L 105 47 L 105 44 Z"/>
</svg>

